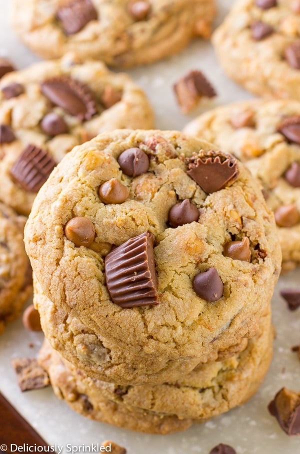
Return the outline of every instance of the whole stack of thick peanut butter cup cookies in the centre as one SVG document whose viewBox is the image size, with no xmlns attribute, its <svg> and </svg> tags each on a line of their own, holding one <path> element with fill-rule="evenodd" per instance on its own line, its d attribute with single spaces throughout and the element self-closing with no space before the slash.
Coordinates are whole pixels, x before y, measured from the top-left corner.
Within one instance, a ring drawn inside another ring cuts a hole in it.
<svg viewBox="0 0 300 454">
<path fill-rule="evenodd" d="M 25 246 L 40 361 L 79 413 L 169 433 L 257 389 L 281 253 L 233 156 L 179 132 L 100 134 L 42 186 Z"/>
</svg>

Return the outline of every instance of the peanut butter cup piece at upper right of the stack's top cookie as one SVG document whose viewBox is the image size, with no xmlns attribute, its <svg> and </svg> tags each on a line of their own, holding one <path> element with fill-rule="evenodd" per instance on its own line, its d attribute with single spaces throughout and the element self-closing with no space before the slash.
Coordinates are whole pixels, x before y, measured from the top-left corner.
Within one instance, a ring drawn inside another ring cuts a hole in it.
<svg viewBox="0 0 300 454">
<path fill-rule="evenodd" d="M 231 185 L 238 176 L 237 161 L 221 151 L 200 151 L 186 159 L 187 174 L 207 193 Z"/>
</svg>

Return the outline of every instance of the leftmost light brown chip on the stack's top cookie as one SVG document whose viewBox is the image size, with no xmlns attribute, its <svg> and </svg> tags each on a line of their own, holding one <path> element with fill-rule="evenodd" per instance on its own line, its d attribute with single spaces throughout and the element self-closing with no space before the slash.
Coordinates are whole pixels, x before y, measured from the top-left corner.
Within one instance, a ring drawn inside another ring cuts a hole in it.
<svg viewBox="0 0 300 454">
<path fill-rule="evenodd" d="M 64 234 L 75 246 L 88 247 L 95 237 L 95 228 L 90 219 L 77 216 L 67 221 L 64 226 Z"/>
</svg>

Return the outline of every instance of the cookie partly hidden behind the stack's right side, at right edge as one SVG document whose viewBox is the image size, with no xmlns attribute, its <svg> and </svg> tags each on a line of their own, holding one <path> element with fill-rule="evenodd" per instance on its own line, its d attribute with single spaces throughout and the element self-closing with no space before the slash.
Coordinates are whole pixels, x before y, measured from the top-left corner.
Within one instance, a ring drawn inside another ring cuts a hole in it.
<svg viewBox="0 0 300 454">
<path fill-rule="evenodd" d="M 300 102 L 250 100 L 224 105 L 184 131 L 237 156 L 259 179 L 274 212 L 282 270 L 300 264 Z"/>
</svg>

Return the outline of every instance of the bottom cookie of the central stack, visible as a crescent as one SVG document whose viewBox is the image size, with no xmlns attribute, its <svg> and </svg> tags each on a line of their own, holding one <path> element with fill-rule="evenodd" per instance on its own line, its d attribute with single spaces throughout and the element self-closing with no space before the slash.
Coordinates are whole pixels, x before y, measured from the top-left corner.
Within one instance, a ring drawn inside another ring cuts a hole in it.
<svg viewBox="0 0 300 454">
<path fill-rule="evenodd" d="M 56 395 L 79 413 L 137 431 L 170 433 L 228 411 L 257 390 L 272 355 L 269 314 L 261 318 L 260 328 L 241 353 L 202 365 L 173 383 L 119 386 L 95 380 L 63 359 L 47 341 L 39 362 Z"/>
</svg>

